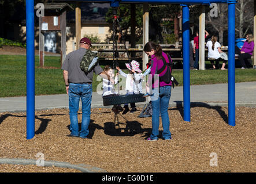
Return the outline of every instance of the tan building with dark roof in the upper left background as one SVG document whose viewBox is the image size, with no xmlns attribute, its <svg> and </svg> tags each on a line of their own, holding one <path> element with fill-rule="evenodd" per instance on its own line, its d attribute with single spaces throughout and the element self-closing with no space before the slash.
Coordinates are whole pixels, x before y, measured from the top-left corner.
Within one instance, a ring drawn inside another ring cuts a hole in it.
<svg viewBox="0 0 256 184">
<path fill-rule="evenodd" d="M 80 3 L 81 8 L 81 37 L 97 36 L 99 42 L 105 43 L 107 36 L 109 36 L 110 25 L 106 22 L 105 15 L 109 9 L 109 3 Z M 35 14 L 36 15 L 36 14 Z M 25 19 L 21 23 L 14 22 L 12 35 L 9 37 L 12 40 L 23 41 L 26 40 L 26 24 Z M 68 11 L 66 14 L 66 54 L 75 50 L 76 45 L 76 20 L 75 10 Z M 46 52 L 60 53 L 61 49 L 61 33 L 55 32 L 45 35 L 44 49 Z M 35 17 L 35 48 L 39 49 L 39 23 L 38 18 Z"/>
</svg>

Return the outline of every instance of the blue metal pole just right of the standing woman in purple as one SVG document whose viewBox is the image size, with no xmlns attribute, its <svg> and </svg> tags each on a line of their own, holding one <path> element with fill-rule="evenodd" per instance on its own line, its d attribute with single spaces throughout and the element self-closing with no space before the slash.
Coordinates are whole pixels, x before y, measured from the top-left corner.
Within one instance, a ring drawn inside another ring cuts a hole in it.
<svg viewBox="0 0 256 184">
<path fill-rule="evenodd" d="M 184 121 L 190 122 L 190 9 L 182 6 Z"/>
</svg>

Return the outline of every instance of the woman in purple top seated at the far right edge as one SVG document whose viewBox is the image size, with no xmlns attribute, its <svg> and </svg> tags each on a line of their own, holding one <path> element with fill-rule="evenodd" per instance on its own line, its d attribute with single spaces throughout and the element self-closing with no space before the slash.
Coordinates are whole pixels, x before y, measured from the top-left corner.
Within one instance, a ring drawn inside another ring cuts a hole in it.
<svg viewBox="0 0 256 184">
<path fill-rule="evenodd" d="M 251 55 L 253 54 L 254 49 L 254 37 L 253 34 L 246 35 L 246 41 L 244 41 L 243 47 L 241 48 L 238 58 L 240 60 L 241 69 L 247 68 L 247 66 L 252 66 Z"/>
</svg>

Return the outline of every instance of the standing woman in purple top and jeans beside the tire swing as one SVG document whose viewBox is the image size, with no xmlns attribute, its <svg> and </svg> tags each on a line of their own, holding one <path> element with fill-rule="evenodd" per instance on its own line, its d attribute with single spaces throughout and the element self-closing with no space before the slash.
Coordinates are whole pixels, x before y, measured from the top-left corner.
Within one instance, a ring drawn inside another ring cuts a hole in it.
<svg viewBox="0 0 256 184">
<path fill-rule="evenodd" d="M 149 81 L 154 78 L 155 74 L 158 74 L 157 70 L 160 70 L 164 66 L 164 60 L 166 63 L 172 62 L 170 57 L 166 53 L 162 52 L 162 48 L 158 44 L 148 42 L 144 45 L 143 51 L 151 57 L 151 71 L 149 76 Z M 162 80 L 161 76 L 165 76 L 165 73 L 169 70 L 169 67 L 166 67 L 166 70 L 162 71 L 159 74 L 159 79 L 152 80 L 151 87 L 153 94 L 151 95 L 151 103 L 153 107 L 152 114 L 152 133 L 147 139 L 148 141 L 158 140 L 159 135 L 159 113 L 161 113 L 162 118 L 162 127 L 164 131 L 162 132 L 162 138 L 164 140 L 170 140 L 170 120 L 168 114 L 168 107 L 170 101 L 170 95 L 172 90 L 172 81 L 167 82 L 168 80 Z"/>
</svg>

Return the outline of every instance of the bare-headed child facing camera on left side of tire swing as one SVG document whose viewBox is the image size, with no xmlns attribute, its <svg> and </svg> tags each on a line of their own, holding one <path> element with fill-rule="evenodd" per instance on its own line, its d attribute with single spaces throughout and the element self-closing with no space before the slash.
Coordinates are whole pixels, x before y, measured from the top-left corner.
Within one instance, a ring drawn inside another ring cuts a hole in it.
<svg viewBox="0 0 256 184">
<path fill-rule="evenodd" d="M 107 75 L 114 78 L 113 69 L 109 65 L 106 65 L 103 68 L 103 70 L 107 73 Z M 117 75 L 118 75 L 118 73 L 116 74 L 116 77 L 114 79 L 114 83 L 103 78 L 102 97 L 112 97 L 112 96 L 118 95 L 114 92 L 114 84 L 116 85 L 118 83 Z M 117 113 L 119 113 L 119 111 L 123 111 L 124 109 L 121 107 L 121 105 L 114 105 L 112 110 L 113 110 L 114 113 L 117 114 Z"/>
</svg>

